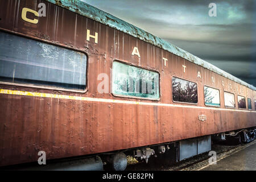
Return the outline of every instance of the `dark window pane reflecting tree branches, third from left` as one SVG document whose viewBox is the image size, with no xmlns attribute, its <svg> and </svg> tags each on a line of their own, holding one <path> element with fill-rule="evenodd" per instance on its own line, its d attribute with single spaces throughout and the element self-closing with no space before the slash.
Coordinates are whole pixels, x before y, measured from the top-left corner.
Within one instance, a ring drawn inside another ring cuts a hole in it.
<svg viewBox="0 0 256 182">
<path fill-rule="evenodd" d="M 174 102 L 197 104 L 197 84 L 172 77 L 172 100 Z"/>
</svg>

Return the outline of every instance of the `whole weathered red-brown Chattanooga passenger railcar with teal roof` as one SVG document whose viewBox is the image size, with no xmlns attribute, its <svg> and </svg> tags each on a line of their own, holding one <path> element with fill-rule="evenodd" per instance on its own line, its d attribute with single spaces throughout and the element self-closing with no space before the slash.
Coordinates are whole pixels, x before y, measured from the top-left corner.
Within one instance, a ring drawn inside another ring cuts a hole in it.
<svg viewBox="0 0 256 182">
<path fill-rule="evenodd" d="M 44 151 L 125 169 L 125 154 L 182 160 L 217 134 L 255 138 L 255 87 L 199 57 L 81 1 L 0 9 L 0 166 Z"/>
</svg>

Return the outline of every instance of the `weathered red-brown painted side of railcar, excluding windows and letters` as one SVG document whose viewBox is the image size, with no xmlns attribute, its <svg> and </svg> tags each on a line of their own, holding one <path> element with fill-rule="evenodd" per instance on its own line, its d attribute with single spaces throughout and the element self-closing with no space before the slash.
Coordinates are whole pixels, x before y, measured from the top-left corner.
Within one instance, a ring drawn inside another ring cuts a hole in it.
<svg viewBox="0 0 256 182">
<path fill-rule="evenodd" d="M 39 17 L 38 24 L 21 19 L 23 7 L 38 10 L 40 2 L 46 3 L 46 17 Z M 237 104 L 235 109 L 224 106 L 224 90 L 235 94 L 236 103 L 238 95 L 254 101 L 254 90 L 125 32 L 46 1 L 1 1 L 0 18 L 1 31 L 88 55 L 85 93 L 0 84 L 0 166 L 34 162 L 40 150 L 46 151 L 47 159 L 57 159 L 256 126 L 254 105 L 251 111 L 240 110 Z M 86 30 L 98 32 L 97 44 L 86 41 Z M 131 55 L 135 46 L 141 57 Z M 163 57 L 168 59 L 166 66 Z M 160 100 L 98 93 L 97 75 L 111 77 L 115 59 L 159 72 Z M 172 76 L 197 83 L 197 105 L 172 101 Z M 220 109 L 204 105 L 204 85 L 220 90 Z M 206 115 L 207 121 L 200 121 L 199 115 Z"/>
</svg>

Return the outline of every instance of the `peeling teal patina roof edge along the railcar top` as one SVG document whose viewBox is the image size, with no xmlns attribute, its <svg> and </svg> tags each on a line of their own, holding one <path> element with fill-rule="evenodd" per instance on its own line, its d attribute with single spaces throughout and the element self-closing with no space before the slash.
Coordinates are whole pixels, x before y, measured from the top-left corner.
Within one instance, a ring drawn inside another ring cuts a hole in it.
<svg viewBox="0 0 256 182">
<path fill-rule="evenodd" d="M 222 75 L 226 78 L 229 78 L 230 80 L 236 81 L 253 90 L 256 90 L 256 88 L 253 85 L 247 84 L 245 81 L 242 81 L 239 78 L 234 77 L 233 75 L 225 71 L 222 71 L 222 69 L 217 68 L 216 66 L 208 63 L 207 61 L 204 61 L 199 57 L 194 56 L 191 53 L 184 51 L 179 47 L 174 46 L 173 44 L 171 44 L 170 42 L 167 42 L 166 40 L 160 39 L 157 36 L 154 36 L 142 30 L 141 28 L 133 26 L 130 23 L 127 23 L 113 15 L 110 15 L 105 11 L 102 11 L 100 9 L 97 9 L 96 7 L 88 5 L 85 2 L 82 2 L 79 0 L 46 0 L 46 1 L 54 3 L 55 5 L 58 5 L 58 6 L 64 7 L 65 9 L 68 9 L 77 14 L 86 16 L 90 19 L 96 20 L 97 22 L 103 23 L 119 31 L 125 32 L 126 34 L 134 36 L 135 38 L 138 38 L 145 42 L 153 44 L 154 46 L 160 47 L 168 52 L 174 53 L 177 56 L 183 57 L 188 61 L 191 61 L 197 65 L 200 65 L 201 67 L 207 68 L 210 71 L 218 73 L 219 75 Z"/>
</svg>

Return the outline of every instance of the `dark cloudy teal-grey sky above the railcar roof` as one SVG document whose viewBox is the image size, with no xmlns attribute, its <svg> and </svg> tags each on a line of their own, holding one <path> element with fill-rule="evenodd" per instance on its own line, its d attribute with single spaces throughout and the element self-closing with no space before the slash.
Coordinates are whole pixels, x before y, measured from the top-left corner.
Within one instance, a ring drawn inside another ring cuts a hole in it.
<svg viewBox="0 0 256 182">
<path fill-rule="evenodd" d="M 256 0 L 81 1 L 256 86 Z M 216 17 L 209 3 L 216 3 Z"/>
</svg>

